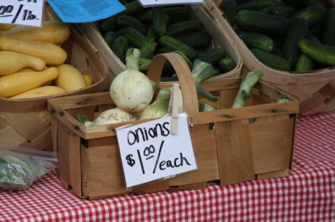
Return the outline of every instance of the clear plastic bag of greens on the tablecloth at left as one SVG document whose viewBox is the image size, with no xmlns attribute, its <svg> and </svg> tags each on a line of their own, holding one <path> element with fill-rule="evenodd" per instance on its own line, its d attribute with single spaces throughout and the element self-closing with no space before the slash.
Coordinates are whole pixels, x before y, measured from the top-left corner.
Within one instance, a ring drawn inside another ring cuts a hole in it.
<svg viewBox="0 0 335 222">
<path fill-rule="evenodd" d="M 54 152 L 0 145 L 0 189 L 27 189 L 56 167 Z"/>
</svg>

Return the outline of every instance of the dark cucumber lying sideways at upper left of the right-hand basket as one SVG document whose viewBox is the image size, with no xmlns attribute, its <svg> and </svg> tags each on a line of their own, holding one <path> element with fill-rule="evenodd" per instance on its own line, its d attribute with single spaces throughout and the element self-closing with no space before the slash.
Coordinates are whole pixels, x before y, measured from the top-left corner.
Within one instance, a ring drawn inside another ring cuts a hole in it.
<svg viewBox="0 0 335 222">
<path fill-rule="evenodd" d="M 285 33 L 290 24 L 290 21 L 285 17 L 253 10 L 240 10 L 235 21 L 238 26 L 247 31 L 270 34 Z"/>
</svg>

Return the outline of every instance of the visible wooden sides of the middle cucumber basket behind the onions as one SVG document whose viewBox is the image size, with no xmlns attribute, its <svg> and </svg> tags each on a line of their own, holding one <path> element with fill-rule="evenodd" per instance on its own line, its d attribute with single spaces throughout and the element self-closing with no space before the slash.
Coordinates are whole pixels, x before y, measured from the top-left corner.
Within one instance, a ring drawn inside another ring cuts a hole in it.
<svg viewBox="0 0 335 222">
<path fill-rule="evenodd" d="M 213 19 L 209 17 L 209 14 L 200 5 L 189 5 L 189 7 L 191 8 L 193 17 L 200 19 L 202 24 L 204 24 L 204 27 L 211 34 L 213 39 L 212 45 L 214 47 L 221 46 L 226 49 L 228 56 L 230 56 L 230 58 L 232 58 L 237 64 L 236 67 L 230 72 L 225 74 L 218 74 L 215 77 L 211 77 L 211 79 L 217 79 L 221 77 L 239 77 L 243 63 L 241 61 L 241 57 L 237 53 L 237 47 L 234 45 L 234 42 L 229 37 L 228 33 L 225 33 L 225 31 L 219 29 L 218 26 L 216 26 L 216 24 L 213 22 Z M 107 45 L 94 23 L 81 24 L 78 26 L 78 29 L 82 31 L 84 35 L 87 35 L 87 38 L 89 38 L 89 40 L 94 44 L 96 49 L 101 52 L 101 55 L 103 58 L 105 58 L 112 75 L 116 76 L 126 68 L 126 65 L 120 61 L 117 55 L 115 55 L 112 49 L 110 49 L 110 47 Z"/>
</svg>

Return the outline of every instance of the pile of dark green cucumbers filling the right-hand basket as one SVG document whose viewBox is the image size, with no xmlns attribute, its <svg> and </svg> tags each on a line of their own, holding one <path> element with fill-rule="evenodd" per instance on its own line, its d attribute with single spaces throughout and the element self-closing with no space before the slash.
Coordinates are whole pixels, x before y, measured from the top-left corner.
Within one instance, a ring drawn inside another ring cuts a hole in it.
<svg viewBox="0 0 335 222">
<path fill-rule="evenodd" d="M 219 6 L 259 61 L 287 72 L 335 65 L 335 8 L 318 0 L 224 0 Z"/>
</svg>

